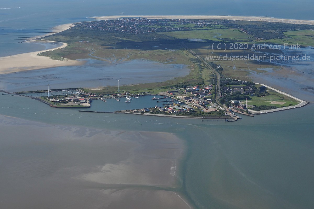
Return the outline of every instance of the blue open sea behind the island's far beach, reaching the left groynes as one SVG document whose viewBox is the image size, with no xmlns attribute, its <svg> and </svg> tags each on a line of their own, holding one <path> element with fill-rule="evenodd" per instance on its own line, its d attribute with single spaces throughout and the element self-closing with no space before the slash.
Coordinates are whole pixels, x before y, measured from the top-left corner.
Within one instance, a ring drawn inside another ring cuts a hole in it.
<svg viewBox="0 0 314 209">
<path fill-rule="evenodd" d="M 42 49 L 40 45 L 16 44 L 23 37 L 43 33 L 53 26 L 79 21 L 87 17 L 106 15 L 238 15 L 268 16 L 274 18 L 314 19 L 313 1 L 287 0 L 284 3 L 266 0 L 244 1 L 158 1 L 126 0 L 92 1 L 6 1 L 0 6 L 0 56 Z M 223 8 L 223 9 L 222 9 Z M 22 38 L 21 38 L 22 37 Z"/>
</svg>

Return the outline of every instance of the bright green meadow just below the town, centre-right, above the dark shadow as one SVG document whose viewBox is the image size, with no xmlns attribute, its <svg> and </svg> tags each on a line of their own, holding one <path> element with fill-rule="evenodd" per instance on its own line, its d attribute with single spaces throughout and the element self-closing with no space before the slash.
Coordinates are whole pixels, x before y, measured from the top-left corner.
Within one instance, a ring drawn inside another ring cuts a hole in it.
<svg viewBox="0 0 314 209">
<path fill-rule="evenodd" d="M 161 32 L 161 34 L 173 36 L 178 39 L 208 39 L 218 41 L 220 39 L 242 39 L 250 40 L 251 35 L 248 35 L 238 29 L 212 29 L 212 30 L 187 30 L 187 31 L 173 31 Z M 217 36 L 221 34 L 221 36 Z M 214 38 L 214 36 L 217 36 Z"/>
</svg>

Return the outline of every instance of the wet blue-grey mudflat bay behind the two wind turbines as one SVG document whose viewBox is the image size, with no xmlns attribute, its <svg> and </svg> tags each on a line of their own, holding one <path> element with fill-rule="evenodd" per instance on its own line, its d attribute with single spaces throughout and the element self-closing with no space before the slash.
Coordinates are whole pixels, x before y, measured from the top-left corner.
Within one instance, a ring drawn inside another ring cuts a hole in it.
<svg viewBox="0 0 314 209">
<path fill-rule="evenodd" d="M 106 88 L 120 84 L 161 82 L 186 76 L 190 69 L 181 64 L 161 64 L 150 60 L 130 60 L 109 63 L 84 59 L 84 65 L 63 66 L 1 75 L 0 89 L 7 91 L 32 91 L 51 88 Z"/>
</svg>

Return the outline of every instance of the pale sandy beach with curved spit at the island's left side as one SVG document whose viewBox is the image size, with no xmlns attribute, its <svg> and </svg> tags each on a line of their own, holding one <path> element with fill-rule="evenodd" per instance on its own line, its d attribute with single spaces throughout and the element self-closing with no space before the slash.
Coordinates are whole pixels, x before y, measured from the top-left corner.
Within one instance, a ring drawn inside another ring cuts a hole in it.
<svg viewBox="0 0 314 209">
<path fill-rule="evenodd" d="M 37 43 L 48 43 L 52 41 L 35 41 L 33 39 L 39 39 L 47 35 L 56 34 L 59 32 L 62 32 L 64 30 L 67 30 L 71 27 L 73 27 L 73 24 L 64 24 L 59 25 L 53 28 L 53 31 L 51 33 L 42 35 L 42 36 L 36 36 L 32 37 L 27 42 L 37 42 Z M 42 51 L 35 51 L 35 52 L 29 52 L 29 53 L 23 53 L 18 55 L 11 55 L 6 57 L 0 57 L 0 74 L 7 74 L 7 73 L 14 73 L 14 72 L 20 72 L 20 71 L 28 71 L 28 70 L 37 70 L 37 69 L 44 69 L 44 68 L 51 68 L 51 67 L 59 67 L 59 66 L 74 66 L 74 65 L 81 65 L 83 62 L 77 61 L 77 60 L 52 60 L 49 57 L 45 56 L 38 56 L 37 54 L 45 51 L 51 51 L 51 50 L 57 50 L 61 49 L 63 47 L 66 47 L 68 44 L 62 43 L 61 46 L 57 48 L 52 48 L 49 50 L 42 50 Z"/>
</svg>

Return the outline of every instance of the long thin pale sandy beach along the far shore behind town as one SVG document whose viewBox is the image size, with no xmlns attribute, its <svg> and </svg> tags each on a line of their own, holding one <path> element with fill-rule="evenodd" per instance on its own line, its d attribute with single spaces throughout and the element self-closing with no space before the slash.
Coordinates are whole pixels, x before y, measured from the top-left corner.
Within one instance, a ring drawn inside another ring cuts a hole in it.
<svg viewBox="0 0 314 209">
<path fill-rule="evenodd" d="M 292 23 L 292 24 L 314 24 L 314 20 L 297 20 L 297 19 L 280 19 L 271 17 L 248 17 L 248 16 L 217 16 L 217 15 L 120 15 L 120 16 L 100 16 L 100 17 L 89 17 L 98 20 L 106 19 L 117 19 L 124 17 L 134 18 L 166 18 L 166 19 L 228 19 L 228 20 L 249 20 L 249 21 L 263 21 L 263 22 L 280 22 L 280 23 Z"/>
</svg>

